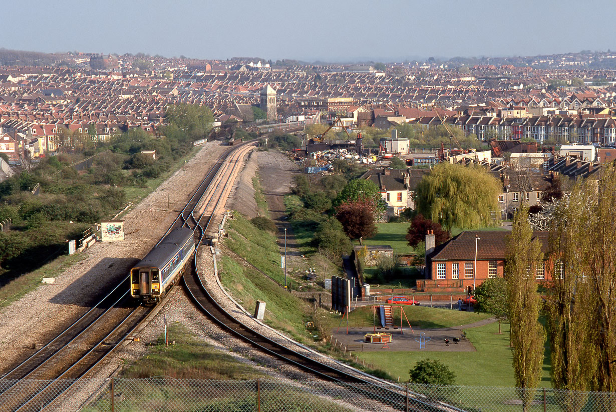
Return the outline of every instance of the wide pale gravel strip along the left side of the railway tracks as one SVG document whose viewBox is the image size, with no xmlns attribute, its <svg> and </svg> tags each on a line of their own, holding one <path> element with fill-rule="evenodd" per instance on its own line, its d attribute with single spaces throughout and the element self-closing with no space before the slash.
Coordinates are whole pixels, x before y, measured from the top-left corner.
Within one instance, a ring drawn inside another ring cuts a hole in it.
<svg viewBox="0 0 616 412">
<path fill-rule="evenodd" d="M 129 267 L 160 239 L 226 147 L 208 142 L 188 163 L 124 217 L 125 240 L 96 243 L 85 259 L 0 312 L 0 371 L 70 325 L 94 303 L 101 289 L 126 276 Z M 168 208 L 169 205 L 169 208 Z"/>
</svg>

